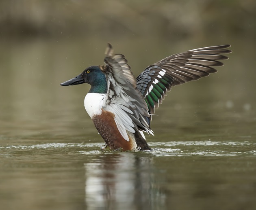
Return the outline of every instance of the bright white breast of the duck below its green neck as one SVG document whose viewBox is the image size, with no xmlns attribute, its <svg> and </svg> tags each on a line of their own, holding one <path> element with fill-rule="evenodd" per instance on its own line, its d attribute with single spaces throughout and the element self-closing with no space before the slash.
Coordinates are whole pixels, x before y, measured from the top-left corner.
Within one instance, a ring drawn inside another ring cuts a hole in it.
<svg viewBox="0 0 256 210">
<path fill-rule="evenodd" d="M 105 103 L 106 93 L 87 93 L 85 96 L 85 110 L 91 118 L 94 115 L 101 115 Z"/>
</svg>

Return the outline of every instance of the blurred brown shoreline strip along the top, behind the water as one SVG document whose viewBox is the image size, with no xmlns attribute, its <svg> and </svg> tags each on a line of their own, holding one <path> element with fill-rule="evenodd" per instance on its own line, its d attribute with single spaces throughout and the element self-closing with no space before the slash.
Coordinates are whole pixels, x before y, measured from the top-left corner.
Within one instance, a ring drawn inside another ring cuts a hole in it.
<svg viewBox="0 0 256 210">
<path fill-rule="evenodd" d="M 177 41 L 188 37 L 204 39 L 205 34 L 241 36 L 251 31 L 247 33 L 249 38 L 255 34 L 255 4 L 246 0 L 1 0 L 1 38 L 156 36 Z"/>
</svg>

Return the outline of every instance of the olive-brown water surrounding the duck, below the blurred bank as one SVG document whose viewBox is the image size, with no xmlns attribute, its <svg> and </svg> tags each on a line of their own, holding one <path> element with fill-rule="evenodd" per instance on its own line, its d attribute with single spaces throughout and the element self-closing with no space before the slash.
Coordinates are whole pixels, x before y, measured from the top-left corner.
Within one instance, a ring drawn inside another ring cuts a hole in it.
<svg viewBox="0 0 256 210">
<path fill-rule="evenodd" d="M 180 52 L 140 42 L 112 43 L 135 75 Z M 232 47 L 216 74 L 174 87 L 142 152 L 101 151 L 83 107 L 89 85 L 59 85 L 102 64 L 105 46 L 1 42 L 1 209 L 255 209 L 255 58 L 238 53 L 249 45 Z"/>
</svg>

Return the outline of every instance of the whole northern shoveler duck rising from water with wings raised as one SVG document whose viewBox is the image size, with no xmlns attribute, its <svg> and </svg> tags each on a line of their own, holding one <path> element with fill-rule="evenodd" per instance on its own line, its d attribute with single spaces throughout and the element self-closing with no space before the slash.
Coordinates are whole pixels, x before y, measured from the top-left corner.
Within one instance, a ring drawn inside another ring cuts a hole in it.
<svg viewBox="0 0 256 210">
<path fill-rule="evenodd" d="M 111 44 L 105 51 L 104 65 L 90 66 L 63 86 L 88 83 L 85 110 L 110 149 L 150 150 L 143 132 L 153 134 L 151 115 L 175 85 L 215 73 L 223 66 L 220 55 L 231 53 L 219 45 L 189 50 L 166 57 L 148 66 L 135 79 L 124 55 L 114 54 Z"/>
</svg>

